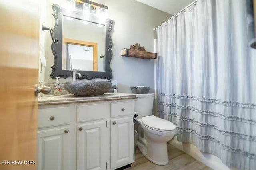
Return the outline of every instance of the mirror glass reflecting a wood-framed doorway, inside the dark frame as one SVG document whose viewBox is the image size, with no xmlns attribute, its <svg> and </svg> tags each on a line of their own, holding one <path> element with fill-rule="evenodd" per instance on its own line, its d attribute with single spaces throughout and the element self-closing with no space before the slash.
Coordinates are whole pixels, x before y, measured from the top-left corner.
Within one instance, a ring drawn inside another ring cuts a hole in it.
<svg viewBox="0 0 256 170">
<path fill-rule="evenodd" d="M 62 29 L 62 69 L 104 72 L 104 25 L 63 16 Z"/>
</svg>

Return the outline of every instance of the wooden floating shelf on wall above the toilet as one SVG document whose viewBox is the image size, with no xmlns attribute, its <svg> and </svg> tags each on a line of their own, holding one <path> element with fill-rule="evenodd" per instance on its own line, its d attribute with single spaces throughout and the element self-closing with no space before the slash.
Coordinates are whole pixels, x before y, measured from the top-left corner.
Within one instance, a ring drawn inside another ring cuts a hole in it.
<svg viewBox="0 0 256 170">
<path fill-rule="evenodd" d="M 121 56 L 143 58 L 143 59 L 156 59 L 158 57 L 158 54 L 125 48 L 121 50 Z"/>
</svg>

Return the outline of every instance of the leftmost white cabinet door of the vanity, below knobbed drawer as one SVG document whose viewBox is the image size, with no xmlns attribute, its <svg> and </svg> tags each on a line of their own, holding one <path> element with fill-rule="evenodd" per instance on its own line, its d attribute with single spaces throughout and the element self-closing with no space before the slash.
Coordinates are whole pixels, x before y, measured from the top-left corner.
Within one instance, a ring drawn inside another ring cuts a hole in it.
<svg viewBox="0 0 256 170">
<path fill-rule="evenodd" d="M 70 127 L 38 131 L 38 170 L 70 170 L 69 130 Z"/>
</svg>

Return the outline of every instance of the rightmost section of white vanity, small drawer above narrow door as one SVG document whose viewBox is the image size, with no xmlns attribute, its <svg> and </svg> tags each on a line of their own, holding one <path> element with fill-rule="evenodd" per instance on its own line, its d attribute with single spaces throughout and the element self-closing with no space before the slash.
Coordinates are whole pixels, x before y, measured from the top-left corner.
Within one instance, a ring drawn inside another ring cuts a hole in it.
<svg viewBox="0 0 256 170">
<path fill-rule="evenodd" d="M 134 162 L 133 103 L 111 103 L 111 169 Z"/>
</svg>

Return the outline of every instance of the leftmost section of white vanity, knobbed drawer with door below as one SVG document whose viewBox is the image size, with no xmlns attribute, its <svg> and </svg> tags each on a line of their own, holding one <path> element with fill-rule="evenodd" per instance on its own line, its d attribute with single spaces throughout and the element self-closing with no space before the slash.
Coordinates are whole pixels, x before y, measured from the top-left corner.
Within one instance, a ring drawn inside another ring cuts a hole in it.
<svg viewBox="0 0 256 170">
<path fill-rule="evenodd" d="M 72 169 L 70 146 L 75 133 L 70 123 L 70 106 L 38 110 L 38 170 Z"/>
</svg>

